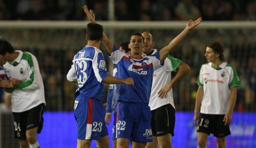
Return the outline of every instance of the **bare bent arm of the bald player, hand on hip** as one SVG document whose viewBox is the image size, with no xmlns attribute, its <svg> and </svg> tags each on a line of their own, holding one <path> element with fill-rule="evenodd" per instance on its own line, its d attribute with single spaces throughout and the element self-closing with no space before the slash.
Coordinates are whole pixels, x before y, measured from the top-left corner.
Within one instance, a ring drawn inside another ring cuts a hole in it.
<svg viewBox="0 0 256 148">
<path fill-rule="evenodd" d="M 190 68 L 189 68 L 189 65 L 184 63 L 184 62 L 181 62 L 178 66 L 178 72 L 176 74 L 175 77 L 173 77 L 171 79 L 171 81 L 163 88 L 161 88 L 159 91 L 158 91 L 158 95 L 160 98 L 166 98 L 167 96 L 167 93 L 171 90 L 171 88 L 174 86 L 174 84 L 176 84 L 177 82 L 179 82 L 179 80 L 185 75 L 185 74 L 188 74 Z"/>
</svg>

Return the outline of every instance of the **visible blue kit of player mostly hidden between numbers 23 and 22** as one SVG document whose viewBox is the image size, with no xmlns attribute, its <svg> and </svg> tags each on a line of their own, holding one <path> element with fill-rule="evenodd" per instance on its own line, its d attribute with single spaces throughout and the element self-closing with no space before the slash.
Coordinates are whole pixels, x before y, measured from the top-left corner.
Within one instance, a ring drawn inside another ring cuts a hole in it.
<svg viewBox="0 0 256 148">
<path fill-rule="evenodd" d="M 113 70 L 113 76 L 117 77 L 117 68 L 114 68 Z M 117 84 L 110 84 L 109 85 L 109 93 L 107 98 L 107 107 L 106 107 L 106 113 L 107 114 L 114 114 L 113 119 L 113 127 L 112 127 L 112 140 L 116 140 L 115 137 L 116 134 L 116 123 L 117 123 Z"/>
</svg>

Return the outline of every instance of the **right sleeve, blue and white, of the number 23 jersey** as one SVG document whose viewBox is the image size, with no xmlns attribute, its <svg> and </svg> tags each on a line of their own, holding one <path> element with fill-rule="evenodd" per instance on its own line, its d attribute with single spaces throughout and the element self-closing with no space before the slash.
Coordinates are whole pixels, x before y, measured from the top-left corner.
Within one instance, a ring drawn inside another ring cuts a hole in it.
<svg viewBox="0 0 256 148">
<path fill-rule="evenodd" d="M 92 60 L 92 68 L 99 82 L 108 76 L 106 61 L 101 51 L 96 50 L 94 59 Z"/>
</svg>

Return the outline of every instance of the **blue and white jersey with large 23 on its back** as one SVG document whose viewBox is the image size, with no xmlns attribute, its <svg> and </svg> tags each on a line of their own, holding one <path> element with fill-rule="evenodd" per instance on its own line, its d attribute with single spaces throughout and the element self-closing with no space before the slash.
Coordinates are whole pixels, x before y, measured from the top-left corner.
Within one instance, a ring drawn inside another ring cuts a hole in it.
<svg viewBox="0 0 256 148">
<path fill-rule="evenodd" d="M 102 79 L 108 76 L 106 62 L 100 49 L 85 46 L 78 51 L 73 59 L 67 79 L 74 82 L 77 79 L 76 93 L 83 93 L 88 98 L 103 100 L 104 84 Z"/>
</svg>

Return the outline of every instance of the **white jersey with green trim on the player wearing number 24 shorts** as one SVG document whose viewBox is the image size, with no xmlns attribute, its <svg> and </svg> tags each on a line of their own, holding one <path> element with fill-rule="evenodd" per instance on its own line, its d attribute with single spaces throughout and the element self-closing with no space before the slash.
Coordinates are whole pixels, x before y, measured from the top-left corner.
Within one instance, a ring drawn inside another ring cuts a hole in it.
<svg viewBox="0 0 256 148">
<path fill-rule="evenodd" d="M 22 80 L 19 86 L 11 93 L 11 109 L 13 112 L 25 112 L 45 104 L 43 79 L 40 74 L 37 58 L 29 52 L 19 52 L 13 62 L 6 62 L 4 69 L 11 79 Z"/>
</svg>

